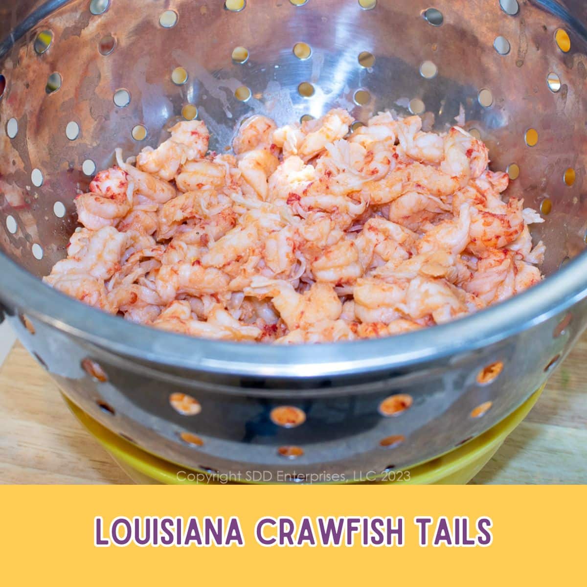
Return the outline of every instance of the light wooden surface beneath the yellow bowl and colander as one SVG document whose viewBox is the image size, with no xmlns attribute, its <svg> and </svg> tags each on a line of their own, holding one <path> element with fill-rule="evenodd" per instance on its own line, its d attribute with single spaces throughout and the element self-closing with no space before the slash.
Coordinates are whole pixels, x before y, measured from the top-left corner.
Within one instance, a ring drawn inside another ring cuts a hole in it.
<svg viewBox="0 0 587 587">
<path fill-rule="evenodd" d="M 587 334 L 472 483 L 587 483 Z M 0 370 L 0 483 L 129 483 L 19 343 Z"/>
</svg>

